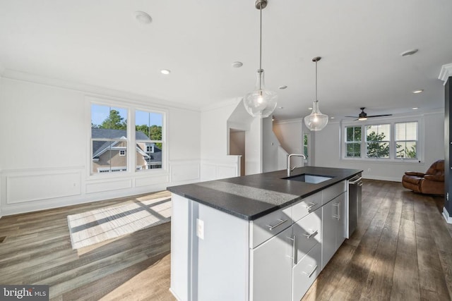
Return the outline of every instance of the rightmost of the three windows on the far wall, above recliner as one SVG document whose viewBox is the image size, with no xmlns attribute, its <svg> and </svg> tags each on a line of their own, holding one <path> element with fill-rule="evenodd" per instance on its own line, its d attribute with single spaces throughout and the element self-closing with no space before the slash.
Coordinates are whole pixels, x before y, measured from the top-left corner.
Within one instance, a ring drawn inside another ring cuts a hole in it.
<svg viewBox="0 0 452 301">
<path fill-rule="evenodd" d="M 417 122 L 396 123 L 396 157 L 417 159 Z"/>
</svg>

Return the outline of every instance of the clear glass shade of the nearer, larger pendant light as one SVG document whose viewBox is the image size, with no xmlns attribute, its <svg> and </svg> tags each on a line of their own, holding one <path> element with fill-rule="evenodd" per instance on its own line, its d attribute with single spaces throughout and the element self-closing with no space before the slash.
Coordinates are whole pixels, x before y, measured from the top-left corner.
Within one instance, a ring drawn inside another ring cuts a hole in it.
<svg viewBox="0 0 452 301">
<path fill-rule="evenodd" d="M 275 111 L 277 99 L 278 94 L 266 90 L 263 69 L 257 70 L 256 88 L 243 98 L 246 111 L 253 117 L 266 118 Z"/>
</svg>

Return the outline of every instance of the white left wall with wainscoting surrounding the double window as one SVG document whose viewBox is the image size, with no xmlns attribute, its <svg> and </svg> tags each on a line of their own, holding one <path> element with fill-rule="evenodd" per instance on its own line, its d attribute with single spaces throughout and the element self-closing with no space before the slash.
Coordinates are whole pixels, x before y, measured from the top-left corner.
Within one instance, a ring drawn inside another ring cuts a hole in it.
<svg viewBox="0 0 452 301">
<path fill-rule="evenodd" d="M 39 81 L 38 81 L 39 82 Z M 201 113 L 159 99 L 0 78 L 0 210 L 16 214 L 163 190 L 201 178 Z M 89 97 L 167 111 L 167 169 L 90 176 Z"/>
</svg>

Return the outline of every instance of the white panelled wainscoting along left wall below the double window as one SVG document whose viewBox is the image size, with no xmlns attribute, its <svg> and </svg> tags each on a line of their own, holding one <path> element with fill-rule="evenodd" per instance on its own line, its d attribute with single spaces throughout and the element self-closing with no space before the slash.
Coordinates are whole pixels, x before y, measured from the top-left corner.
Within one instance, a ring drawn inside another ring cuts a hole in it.
<svg viewBox="0 0 452 301">
<path fill-rule="evenodd" d="M 219 166 L 218 175 L 228 176 L 232 170 L 227 165 Z M 200 175 L 199 160 L 169 161 L 167 172 L 139 171 L 115 174 L 114 177 L 105 175 L 105 178 L 90 178 L 85 166 L 2 170 L 0 214 L 7 216 L 140 195 L 173 185 L 199 182 Z"/>
</svg>

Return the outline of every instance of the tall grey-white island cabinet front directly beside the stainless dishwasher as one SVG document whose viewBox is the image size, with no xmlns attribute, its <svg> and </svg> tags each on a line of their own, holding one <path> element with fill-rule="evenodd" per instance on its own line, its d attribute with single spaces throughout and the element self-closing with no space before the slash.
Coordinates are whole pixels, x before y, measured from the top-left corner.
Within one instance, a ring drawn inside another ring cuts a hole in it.
<svg viewBox="0 0 452 301">
<path fill-rule="evenodd" d="M 346 222 L 343 192 L 322 207 L 322 269 L 345 240 Z"/>
</svg>

